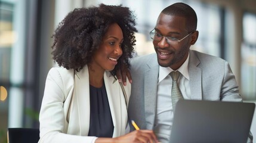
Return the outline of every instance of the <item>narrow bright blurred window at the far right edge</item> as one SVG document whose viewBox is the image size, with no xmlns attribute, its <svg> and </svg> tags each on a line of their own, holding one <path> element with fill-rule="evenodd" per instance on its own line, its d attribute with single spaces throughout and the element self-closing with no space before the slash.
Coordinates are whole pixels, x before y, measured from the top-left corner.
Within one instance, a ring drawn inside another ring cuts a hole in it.
<svg viewBox="0 0 256 143">
<path fill-rule="evenodd" d="M 241 47 L 241 93 L 245 100 L 256 99 L 256 14 L 243 15 Z"/>
</svg>

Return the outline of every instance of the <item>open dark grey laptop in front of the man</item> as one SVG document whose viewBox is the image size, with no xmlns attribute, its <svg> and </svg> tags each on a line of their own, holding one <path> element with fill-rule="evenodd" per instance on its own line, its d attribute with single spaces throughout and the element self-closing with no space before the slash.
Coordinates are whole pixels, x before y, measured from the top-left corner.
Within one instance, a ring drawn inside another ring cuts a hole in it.
<svg viewBox="0 0 256 143">
<path fill-rule="evenodd" d="M 180 100 L 171 143 L 243 143 L 248 139 L 254 103 Z"/>
</svg>

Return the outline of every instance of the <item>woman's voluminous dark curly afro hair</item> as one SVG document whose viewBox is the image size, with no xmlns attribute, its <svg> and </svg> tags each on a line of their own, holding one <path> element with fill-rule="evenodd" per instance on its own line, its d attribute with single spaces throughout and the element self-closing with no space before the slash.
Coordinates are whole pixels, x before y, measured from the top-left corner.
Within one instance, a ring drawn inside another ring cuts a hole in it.
<svg viewBox="0 0 256 143">
<path fill-rule="evenodd" d="M 53 38 L 53 59 L 58 66 L 80 71 L 90 63 L 92 55 L 98 49 L 110 24 L 118 23 L 122 29 L 124 42 L 123 54 L 112 74 L 121 64 L 129 67 L 135 45 L 135 17 L 128 7 L 122 5 L 104 5 L 98 7 L 76 8 L 58 24 Z"/>
</svg>

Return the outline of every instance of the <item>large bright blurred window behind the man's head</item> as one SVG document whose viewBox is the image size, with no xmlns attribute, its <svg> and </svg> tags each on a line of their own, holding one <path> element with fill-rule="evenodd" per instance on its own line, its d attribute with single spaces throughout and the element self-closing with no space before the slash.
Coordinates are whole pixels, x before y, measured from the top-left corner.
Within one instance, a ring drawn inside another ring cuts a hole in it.
<svg viewBox="0 0 256 143">
<path fill-rule="evenodd" d="M 217 5 L 205 4 L 196 1 L 122 1 L 122 3 L 131 8 L 137 16 L 138 33 L 135 35 L 137 42 L 135 50 L 138 55 L 155 52 L 149 32 L 155 27 L 158 15 L 168 5 L 175 2 L 184 2 L 189 4 L 198 15 L 199 39 L 192 45 L 191 49 L 205 52 L 206 54 L 221 57 L 221 8 Z M 111 3 L 113 4 L 113 3 Z M 141 7 L 143 5 L 143 7 Z M 221 57 L 223 58 L 223 57 Z"/>
</svg>

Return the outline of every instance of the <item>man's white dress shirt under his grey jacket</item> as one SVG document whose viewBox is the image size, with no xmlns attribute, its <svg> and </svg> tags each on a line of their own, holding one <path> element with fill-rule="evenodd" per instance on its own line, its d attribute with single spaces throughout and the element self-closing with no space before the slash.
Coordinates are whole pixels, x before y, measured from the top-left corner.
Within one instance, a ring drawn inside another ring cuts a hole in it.
<svg viewBox="0 0 256 143">
<path fill-rule="evenodd" d="M 171 136 L 172 120 L 174 116 L 171 101 L 172 79 L 169 75 L 171 71 L 174 70 L 170 67 L 159 66 L 156 120 L 153 130 L 160 142 L 169 142 Z M 181 94 L 184 99 L 190 99 L 189 56 L 178 71 L 181 73 L 178 78 L 178 86 Z"/>
</svg>

